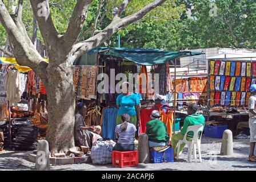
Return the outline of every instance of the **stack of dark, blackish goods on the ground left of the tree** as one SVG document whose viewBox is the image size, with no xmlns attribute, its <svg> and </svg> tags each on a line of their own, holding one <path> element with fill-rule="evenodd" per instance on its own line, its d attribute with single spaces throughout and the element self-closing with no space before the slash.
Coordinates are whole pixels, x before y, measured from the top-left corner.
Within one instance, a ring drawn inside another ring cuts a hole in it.
<svg viewBox="0 0 256 182">
<path fill-rule="evenodd" d="M 13 121 L 13 145 L 15 150 L 36 150 L 38 128 L 28 119 Z"/>
</svg>

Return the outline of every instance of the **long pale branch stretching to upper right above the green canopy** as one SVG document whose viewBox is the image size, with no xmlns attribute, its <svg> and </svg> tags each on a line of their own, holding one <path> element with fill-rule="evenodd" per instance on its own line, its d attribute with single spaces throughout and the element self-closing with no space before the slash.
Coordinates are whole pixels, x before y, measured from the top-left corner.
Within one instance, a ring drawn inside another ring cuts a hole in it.
<svg viewBox="0 0 256 182">
<path fill-rule="evenodd" d="M 118 32 L 121 28 L 127 26 L 128 24 L 134 23 L 137 20 L 143 18 L 149 11 L 155 9 L 155 7 L 162 5 L 167 0 L 155 0 L 154 2 L 149 3 L 143 7 L 143 9 L 139 10 L 137 13 L 131 14 L 126 16 L 122 19 L 113 20 L 109 26 L 107 26 L 102 32 L 99 34 L 94 35 L 93 37 L 81 42 L 77 43 L 73 46 L 71 51 L 72 60 L 77 59 L 78 57 L 82 56 L 84 53 L 90 51 L 91 49 L 101 45 L 107 39 L 109 39 L 113 34 Z"/>
</svg>

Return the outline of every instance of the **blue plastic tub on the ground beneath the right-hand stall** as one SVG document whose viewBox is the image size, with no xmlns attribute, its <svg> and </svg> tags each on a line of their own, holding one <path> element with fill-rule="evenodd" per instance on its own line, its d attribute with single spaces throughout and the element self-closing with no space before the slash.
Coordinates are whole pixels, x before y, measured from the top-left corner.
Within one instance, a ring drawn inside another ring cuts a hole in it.
<svg viewBox="0 0 256 182">
<path fill-rule="evenodd" d="M 222 138 L 227 125 L 205 126 L 205 137 Z"/>
</svg>

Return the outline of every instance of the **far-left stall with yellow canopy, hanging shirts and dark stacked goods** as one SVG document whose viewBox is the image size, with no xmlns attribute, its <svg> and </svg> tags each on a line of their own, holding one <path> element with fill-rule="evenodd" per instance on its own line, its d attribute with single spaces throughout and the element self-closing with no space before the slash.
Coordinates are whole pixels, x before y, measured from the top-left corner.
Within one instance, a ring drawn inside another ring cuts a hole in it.
<svg viewBox="0 0 256 182">
<path fill-rule="evenodd" d="M 0 150 L 35 150 L 38 127 L 33 125 L 34 111 L 29 107 L 29 67 L 19 66 L 15 58 L 0 58 Z"/>
</svg>

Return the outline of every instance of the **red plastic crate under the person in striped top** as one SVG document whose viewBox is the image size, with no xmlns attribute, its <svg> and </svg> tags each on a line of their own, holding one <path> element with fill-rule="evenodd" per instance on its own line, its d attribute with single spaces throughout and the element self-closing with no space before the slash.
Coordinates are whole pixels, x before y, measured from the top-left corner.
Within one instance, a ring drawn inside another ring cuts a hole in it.
<svg viewBox="0 0 256 182">
<path fill-rule="evenodd" d="M 138 166 L 138 151 L 112 151 L 112 165 L 117 167 L 134 167 Z"/>
</svg>

